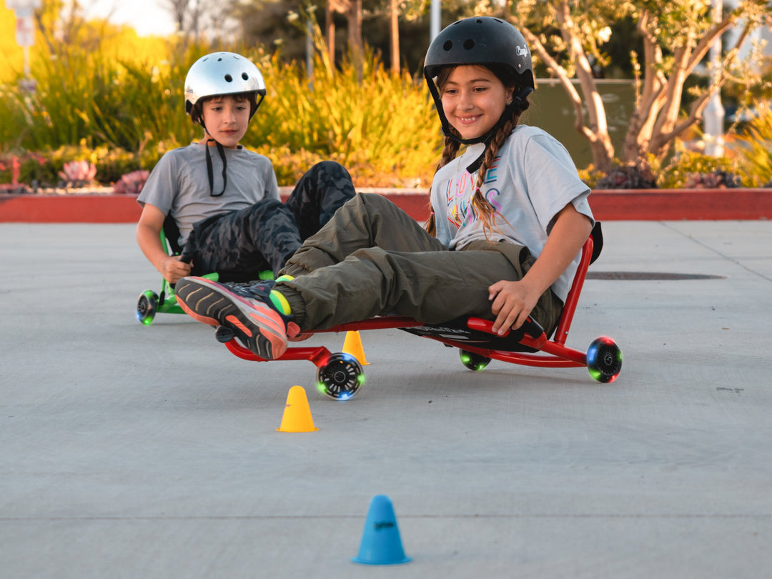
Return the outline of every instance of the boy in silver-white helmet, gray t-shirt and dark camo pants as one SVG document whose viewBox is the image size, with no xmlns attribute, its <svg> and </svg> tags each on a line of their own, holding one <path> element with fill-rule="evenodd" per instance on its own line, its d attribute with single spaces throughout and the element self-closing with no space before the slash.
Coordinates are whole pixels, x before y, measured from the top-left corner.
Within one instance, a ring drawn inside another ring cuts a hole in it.
<svg viewBox="0 0 772 579">
<path fill-rule="evenodd" d="M 354 185 L 340 164 L 324 161 L 300 178 L 286 205 L 273 165 L 239 141 L 266 86 L 257 67 L 233 52 L 198 59 L 185 78 L 185 112 L 204 128 L 201 141 L 161 157 L 137 201 L 137 242 L 168 280 L 218 273 L 221 281 L 259 279 L 284 266 L 340 205 Z M 169 256 L 161 229 L 179 230 L 181 256 Z M 166 224 L 164 224 L 166 222 Z"/>
</svg>

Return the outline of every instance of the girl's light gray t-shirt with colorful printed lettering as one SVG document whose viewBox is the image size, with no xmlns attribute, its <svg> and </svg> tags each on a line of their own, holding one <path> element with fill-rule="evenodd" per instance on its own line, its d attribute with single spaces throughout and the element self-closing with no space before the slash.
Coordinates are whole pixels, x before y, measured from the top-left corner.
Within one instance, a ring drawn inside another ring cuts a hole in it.
<svg viewBox="0 0 772 579">
<path fill-rule="evenodd" d="M 435 174 L 432 209 L 437 238 L 451 248 L 486 239 L 482 223 L 472 212 L 472 187 L 476 173 L 466 168 L 482 153 L 484 144 L 467 147 Z M 495 209 L 496 227 L 491 241 L 524 245 L 538 257 L 547 242 L 555 215 L 572 203 L 578 212 L 594 218 L 587 203 L 590 188 L 579 178 L 565 147 L 537 127 L 518 125 L 507 137 L 486 173 L 482 195 Z M 553 284 L 560 300 L 566 299 L 579 255 Z"/>
</svg>

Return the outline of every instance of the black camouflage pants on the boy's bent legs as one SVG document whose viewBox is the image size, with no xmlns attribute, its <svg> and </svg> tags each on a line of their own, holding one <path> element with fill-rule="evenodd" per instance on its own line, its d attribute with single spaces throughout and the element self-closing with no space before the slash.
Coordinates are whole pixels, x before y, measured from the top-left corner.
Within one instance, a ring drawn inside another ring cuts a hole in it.
<svg viewBox="0 0 772 579">
<path fill-rule="evenodd" d="M 192 257 L 191 275 L 217 272 L 220 281 L 235 282 L 259 279 L 266 269 L 276 275 L 303 240 L 354 195 L 342 165 L 317 163 L 303 174 L 286 204 L 265 199 L 196 223 L 183 251 Z"/>
</svg>

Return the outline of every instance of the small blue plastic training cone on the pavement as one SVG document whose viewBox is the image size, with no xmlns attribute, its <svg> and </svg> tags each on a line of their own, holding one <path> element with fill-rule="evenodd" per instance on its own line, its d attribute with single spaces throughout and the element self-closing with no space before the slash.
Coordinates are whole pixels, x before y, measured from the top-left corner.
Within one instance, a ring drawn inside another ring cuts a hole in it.
<svg viewBox="0 0 772 579">
<path fill-rule="evenodd" d="M 359 554 L 351 560 L 366 565 L 396 565 L 411 560 L 402 549 L 397 516 L 388 496 L 377 495 L 370 501 Z"/>
</svg>

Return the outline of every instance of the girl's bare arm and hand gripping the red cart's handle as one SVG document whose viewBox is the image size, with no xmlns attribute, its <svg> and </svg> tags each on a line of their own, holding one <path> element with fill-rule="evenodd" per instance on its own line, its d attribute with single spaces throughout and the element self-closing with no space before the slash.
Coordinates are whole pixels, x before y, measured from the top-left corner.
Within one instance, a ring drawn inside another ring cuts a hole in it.
<svg viewBox="0 0 772 579">
<path fill-rule="evenodd" d="M 488 299 L 493 301 L 491 311 L 496 316 L 494 332 L 504 334 L 510 327 L 516 329 L 523 325 L 541 294 L 577 256 L 591 229 L 590 219 L 577 212 L 571 203 L 558 212 L 544 249 L 523 279 L 502 280 L 488 288 Z"/>
</svg>

